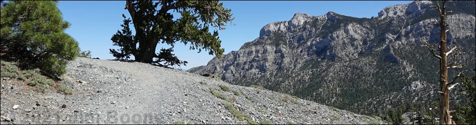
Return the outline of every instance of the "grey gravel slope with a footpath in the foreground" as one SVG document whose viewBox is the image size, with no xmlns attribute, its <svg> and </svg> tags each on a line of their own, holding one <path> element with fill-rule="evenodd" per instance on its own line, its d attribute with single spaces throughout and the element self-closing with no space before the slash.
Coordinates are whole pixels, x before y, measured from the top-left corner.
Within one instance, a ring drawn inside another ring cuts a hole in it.
<svg viewBox="0 0 476 125">
<path fill-rule="evenodd" d="M 77 58 L 67 71 L 60 82 L 73 87 L 72 95 L 38 93 L 2 77 L 0 123 L 385 123 L 288 94 L 145 63 Z"/>
</svg>

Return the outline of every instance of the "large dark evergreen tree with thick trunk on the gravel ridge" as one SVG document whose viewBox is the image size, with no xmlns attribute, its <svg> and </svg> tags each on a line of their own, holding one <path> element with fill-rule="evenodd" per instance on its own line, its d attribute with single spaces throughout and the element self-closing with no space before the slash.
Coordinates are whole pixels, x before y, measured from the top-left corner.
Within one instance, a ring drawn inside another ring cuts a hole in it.
<svg viewBox="0 0 476 125">
<path fill-rule="evenodd" d="M 110 49 L 116 58 L 128 59 L 134 55 L 135 61 L 156 63 L 161 66 L 186 64 L 179 60 L 173 52 L 176 41 L 184 44 L 190 43 L 190 49 L 208 50 L 208 54 L 221 57 L 224 49 L 220 48 L 221 40 L 218 31 L 209 32 L 209 27 L 224 29 L 226 23 L 231 21 L 230 9 L 222 6 L 218 1 L 185 1 L 185 0 L 152 0 L 126 1 L 126 7 L 131 18 L 126 18 L 111 38 L 114 45 L 120 49 Z M 179 18 L 173 19 L 179 13 Z M 133 24 L 135 34 L 129 23 Z M 156 53 L 158 43 L 171 45 L 170 48 L 161 48 Z M 155 58 L 155 60 L 153 60 Z"/>
</svg>

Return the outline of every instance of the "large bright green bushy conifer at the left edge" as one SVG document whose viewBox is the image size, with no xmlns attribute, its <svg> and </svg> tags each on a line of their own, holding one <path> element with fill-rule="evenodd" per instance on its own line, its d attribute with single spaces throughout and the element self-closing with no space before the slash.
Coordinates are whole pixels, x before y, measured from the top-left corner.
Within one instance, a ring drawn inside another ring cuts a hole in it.
<svg viewBox="0 0 476 125">
<path fill-rule="evenodd" d="M 71 24 L 63 20 L 57 1 L 8 1 L 0 21 L 1 49 L 24 65 L 59 76 L 78 55 L 78 42 L 64 32 Z"/>
</svg>

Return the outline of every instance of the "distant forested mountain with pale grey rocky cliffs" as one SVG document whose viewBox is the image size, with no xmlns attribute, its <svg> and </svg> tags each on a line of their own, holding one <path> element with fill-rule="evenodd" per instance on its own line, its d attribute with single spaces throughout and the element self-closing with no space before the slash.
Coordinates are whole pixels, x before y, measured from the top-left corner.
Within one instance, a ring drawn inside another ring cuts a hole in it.
<svg viewBox="0 0 476 125">
<path fill-rule="evenodd" d="M 437 60 L 424 41 L 439 39 L 431 1 L 388 6 L 372 18 L 296 13 L 272 22 L 260 37 L 189 72 L 213 73 L 232 84 L 258 84 L 361 113 L 436 99 Z M 448 41 L 475 67 L 475 2 L 448 1 Z M 438 18 L 439 19 L 439 18 Z M 453 70 L 450 74 L 455 74 Z M 452 77 L 452 76 L 451 76 Z M 421 85 L 416 89 L 415 84 Z M 457 91 L 453 91 L 456 92 Z M 418 98 L 419 96 L 419 98 Z M 453 99 L 457 100 L 457 99 Z"/>
</svg>

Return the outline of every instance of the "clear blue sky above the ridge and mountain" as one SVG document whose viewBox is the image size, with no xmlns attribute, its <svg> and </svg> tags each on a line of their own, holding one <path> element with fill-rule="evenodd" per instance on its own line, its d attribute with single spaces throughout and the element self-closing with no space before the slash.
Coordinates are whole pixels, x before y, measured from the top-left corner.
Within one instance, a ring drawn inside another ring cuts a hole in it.
<svg viewBox="0 0 476 125">
<path fill-rule="evenodd" d="M 224 54 L 238 50 L 248 41 L 260 35 L 260 29 L 271 22 L 290 20 L 294 13 L 302 12 L 319 16 L 333 11 L 339 14 L 368 17 L 377 16 L 384 7 L 395 4 L 406 4 L 411 1 L 222 1 L 225 8 L 230 8 L 232 21 L 235 25 L 227 25 L 219 31 Z M 129 15 L 124 9 L 125 1 L 67 1 L 61 0 L 58 7 L 63 18 L 71 22 L 66 33 L 73 36 L 82 50 L 91 50 L 92 57 L 101 59 L 115 59 L 109 53 L 113 46 L 111 36 L 122 29 L 122 14 Z M 132 25 L 131 25 L 132 26 Z M 160 49 L 163 44 L 158 44 Z M 167 46 L 164 46 L 168 48 Z M 188 69 L 206 65 L 214 57 L 207 51 L 197 53 L 198 50 L 189 50 L 188 45 L 177 42 L 175 55 L 181 60 L 188 61 Z M 159 50 L 157 49 L 157 50 Z M 131 58 L 133 59 L 133 58 Z"/>
</svg>

